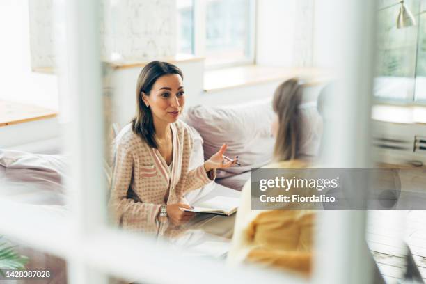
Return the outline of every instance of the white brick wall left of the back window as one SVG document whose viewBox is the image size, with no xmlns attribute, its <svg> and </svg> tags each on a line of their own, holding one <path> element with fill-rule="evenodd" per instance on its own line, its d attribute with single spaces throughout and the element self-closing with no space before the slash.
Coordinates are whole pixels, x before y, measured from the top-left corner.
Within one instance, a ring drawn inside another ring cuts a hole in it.
<svg viewBox="0 0 426 284">
<path fill-rule="evenodd" d="M 63 4 L 54 0 L 27 2 L 30 3 L 32 66 L 52 67 L 58 63 L 56 36 L 65 26 L 65 17 L 57 17 Z M 102 0 L 99 10 L 102 58 L 140 62 L 175 55 L 175 0 Z"/>
</svg>

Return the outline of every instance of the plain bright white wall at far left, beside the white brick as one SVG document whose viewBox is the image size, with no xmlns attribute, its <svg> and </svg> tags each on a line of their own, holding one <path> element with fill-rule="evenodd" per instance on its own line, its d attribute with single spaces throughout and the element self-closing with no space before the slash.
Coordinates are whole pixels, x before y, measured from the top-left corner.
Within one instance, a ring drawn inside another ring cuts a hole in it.
<svg viewBox="0 0 426 284">
<path fill-rule="evenodd" d="M 28 3 L 0 1 L 0 100 L 58 109 L 57 77 L 31 72 Z"/>
</svg>

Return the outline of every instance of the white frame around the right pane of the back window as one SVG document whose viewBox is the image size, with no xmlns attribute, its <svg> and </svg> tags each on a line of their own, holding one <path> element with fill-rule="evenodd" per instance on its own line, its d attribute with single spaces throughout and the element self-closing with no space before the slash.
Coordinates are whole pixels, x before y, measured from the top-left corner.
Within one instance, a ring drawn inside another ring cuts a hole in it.
<svg viewBox="0 0 426 284">
<path fill-rule="evenodd" d="M 214 64 L 214 65 L 206 65 L 207 70 L 219 69 L 219 68 L 227 68 L 232 66 L 239 65 L 251 65 L 255 63 L 255 42 L 256 42 L 256 6 L 258 0 L 249 0 L 249 19 L 251 20 L 249 23 L 249 39 L 248 39 L 248 58 L 239 61 L 232 61 L 230 63 L 223 64 Z M 207 9 L 207 1 L 205 0 L 193 0 L 193 19 L 194 19 L 194 27 L 193 27 L 193 45 L 194 45 L 194 54 L 197 56 L 205 56 L 205 29 L 206 29 L 206 9 Z"/>
</svg>

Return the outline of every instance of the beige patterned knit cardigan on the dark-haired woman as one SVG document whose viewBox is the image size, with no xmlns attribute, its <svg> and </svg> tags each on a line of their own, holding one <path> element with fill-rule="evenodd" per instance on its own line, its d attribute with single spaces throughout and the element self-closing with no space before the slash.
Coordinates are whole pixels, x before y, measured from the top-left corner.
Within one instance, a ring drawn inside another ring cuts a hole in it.
<svg viewBox="0 0 426 284">
<path fill-rule="evenodd" d="M 113 219 L 125 229 L 158 234 L 168 222 L 157 221 L 161 205 L 178 203 L 184 193 L 216 178 L 204 166 L 189 170 L 194 145 L 191 129 L 178 120 L 171 123 L 173 165 L 169 170 L 159 151 L 151 148 L 127 125 L 116 139 L 116 157 L 109 206 Z M 166 196 L 166 194 L 168 196 Z"/>
</svg>

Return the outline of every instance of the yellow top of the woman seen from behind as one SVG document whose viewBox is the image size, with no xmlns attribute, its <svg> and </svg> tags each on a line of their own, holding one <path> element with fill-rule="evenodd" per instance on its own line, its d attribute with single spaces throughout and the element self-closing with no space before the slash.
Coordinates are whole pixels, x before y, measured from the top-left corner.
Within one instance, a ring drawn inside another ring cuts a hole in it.
<svg viewBox="0 0 426 284">
<path fill-rule="evenodd" d="M 290 160 L 263 168 L 306 168 Z M 315 213 L 310 210 L 251 210 L 251 180 L 242 189 L 228 263 L 255 262 L 308 275 L 312 268 Z"/>
</svg>

